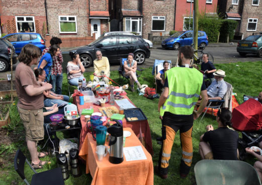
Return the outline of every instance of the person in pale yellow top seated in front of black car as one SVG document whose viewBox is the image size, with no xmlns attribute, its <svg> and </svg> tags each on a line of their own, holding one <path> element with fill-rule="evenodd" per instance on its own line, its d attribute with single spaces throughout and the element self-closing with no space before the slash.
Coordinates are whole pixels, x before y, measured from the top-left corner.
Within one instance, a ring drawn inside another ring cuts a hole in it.
<svg viewBox="0 0 262 185">
<path fill-rule="evenodd" d="M 102 56 L 102 52 L 98 50 L 96 52 L 97 59 L 94 60 L 94 80 L 95 81 L 105 81 L 106 84 L 109 84 L 110 77 L 110 65 L 108 58 Z"/>
</svg>

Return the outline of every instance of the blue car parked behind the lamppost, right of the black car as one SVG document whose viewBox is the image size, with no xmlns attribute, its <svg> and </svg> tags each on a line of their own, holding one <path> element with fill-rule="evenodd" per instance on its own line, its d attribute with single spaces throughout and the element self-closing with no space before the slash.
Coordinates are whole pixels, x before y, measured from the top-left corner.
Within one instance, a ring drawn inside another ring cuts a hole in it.
<svg viewBox="0 0 262 185">
<path fill-rule="evenodd" d="M 178 50 L 181 46 L 190 46 L 193 43 L 193 31 L 177 32 L 161 43 L 162 48 Z M 198 47 L 205 48 L 208 45 L 208 37 L 205 32 L 198 31 Z"/>
</svg>

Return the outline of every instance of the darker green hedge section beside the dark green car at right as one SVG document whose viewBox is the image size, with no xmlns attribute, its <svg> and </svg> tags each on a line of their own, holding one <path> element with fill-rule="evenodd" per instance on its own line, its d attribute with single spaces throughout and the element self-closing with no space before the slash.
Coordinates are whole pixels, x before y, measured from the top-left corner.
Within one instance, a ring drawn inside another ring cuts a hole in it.
<svg viewBox="0 0 262 185">
<path fill-rule="evenodd" d="M 224 19 L 221 20 L 221 23 L 219 42 L 227 42 L 227 36 L 229 36 L 229 41 L 232 41 L 237 22 L 235 20 Z"/>
</svg>

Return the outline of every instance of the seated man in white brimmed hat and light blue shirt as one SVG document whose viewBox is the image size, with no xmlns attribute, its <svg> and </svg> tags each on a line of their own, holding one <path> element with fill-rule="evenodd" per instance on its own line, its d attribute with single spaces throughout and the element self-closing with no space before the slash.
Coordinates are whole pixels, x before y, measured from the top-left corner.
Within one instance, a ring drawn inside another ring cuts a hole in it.
<svg viewBox="0 0 262 185">
<path fill-rule="evenodd" d="M 225 71 L 218 69 L 213 74 L 215 80 L 207 88 L 208 100 L 222 100 L 227 90 L 227 84 L 224 81 Z"/>
</svg>

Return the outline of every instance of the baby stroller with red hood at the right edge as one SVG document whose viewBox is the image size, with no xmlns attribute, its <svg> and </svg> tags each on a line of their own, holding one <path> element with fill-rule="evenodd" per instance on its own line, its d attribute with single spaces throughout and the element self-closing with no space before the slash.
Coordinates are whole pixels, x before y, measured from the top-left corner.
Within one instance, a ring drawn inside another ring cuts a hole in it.
<svg viewBox="0 0 262 185">
<path fill-rule="evenodd" d="M 258 146 L 262 141 L 262 104 L 254 99 L 249 99 L 236 107 L 232 112 L 232 127 L 240 131 L 239 156 L 245 158 L 245 148 Z"/>
</svg>

